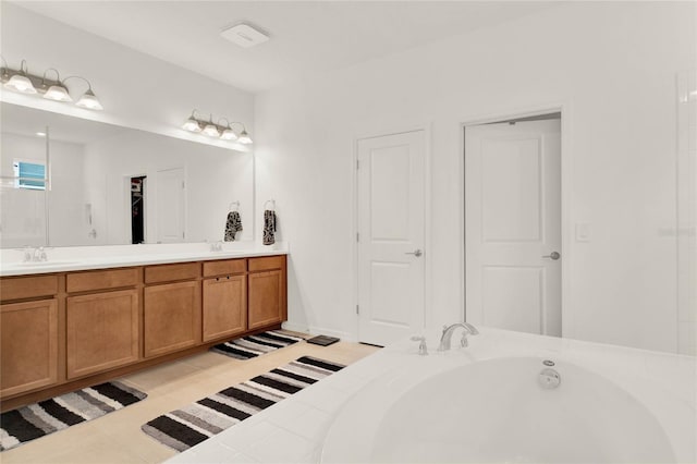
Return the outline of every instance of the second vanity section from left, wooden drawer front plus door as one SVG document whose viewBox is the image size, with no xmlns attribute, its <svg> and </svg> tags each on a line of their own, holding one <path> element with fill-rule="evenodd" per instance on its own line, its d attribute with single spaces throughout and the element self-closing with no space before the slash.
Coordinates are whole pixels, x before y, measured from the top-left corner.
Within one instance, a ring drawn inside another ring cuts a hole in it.
<svg viewBox="0 0 697 464">
<path fill-rule="evenodd" d="M 124 366 L 139 358 L 137 268 L 66 277 L 66 378 Z M 117 290 L 118 289 L 118 290 Z"/>
</svg>

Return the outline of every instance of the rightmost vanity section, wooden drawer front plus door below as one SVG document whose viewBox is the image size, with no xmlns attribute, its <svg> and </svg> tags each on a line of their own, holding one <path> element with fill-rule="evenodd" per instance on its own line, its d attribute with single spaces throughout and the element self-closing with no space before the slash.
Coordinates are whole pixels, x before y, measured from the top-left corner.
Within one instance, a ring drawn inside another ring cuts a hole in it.
<svg viewBox="0 0 697 464">
<path fill-rule="evenodd" d="M 249 258 L 249 330 L 286 319 L 285 256 Z"/>
</svg>

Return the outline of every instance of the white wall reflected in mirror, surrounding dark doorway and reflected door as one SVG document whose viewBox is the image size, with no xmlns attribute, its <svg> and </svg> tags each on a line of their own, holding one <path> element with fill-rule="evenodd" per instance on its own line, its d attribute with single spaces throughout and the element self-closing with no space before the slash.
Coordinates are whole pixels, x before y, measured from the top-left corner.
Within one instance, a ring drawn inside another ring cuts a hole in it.
<svg viewBox="0 0 697 464">
<path fill-rule="evenodd" d="M 254 239 L 250 154 L 131 130 L 87 144 L 85 152 L 86 202 L 97 232 L 93 244 L 131 243 L 129 179 L 138 175 L 147 175 L 146 242 L 156 243 L 158 202 L 167 202 L 157 197 L 157 172 L 173 168 L 185 172 L 186 242 L 223 240 L 232 202 L 240 202 L 244 227 L 236 239 Z"/>
</svg>

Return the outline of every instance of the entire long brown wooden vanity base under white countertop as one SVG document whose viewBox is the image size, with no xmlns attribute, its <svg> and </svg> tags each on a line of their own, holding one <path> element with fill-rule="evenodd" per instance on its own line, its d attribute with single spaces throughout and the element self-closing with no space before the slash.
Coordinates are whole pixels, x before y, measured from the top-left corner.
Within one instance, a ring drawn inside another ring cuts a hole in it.
<svg viewBox="0 0 697 464">
<path fill-rule="evenodd" d="M 284 255 L 0 278 L 0 408 L 278 329 Z"/>
</svg>

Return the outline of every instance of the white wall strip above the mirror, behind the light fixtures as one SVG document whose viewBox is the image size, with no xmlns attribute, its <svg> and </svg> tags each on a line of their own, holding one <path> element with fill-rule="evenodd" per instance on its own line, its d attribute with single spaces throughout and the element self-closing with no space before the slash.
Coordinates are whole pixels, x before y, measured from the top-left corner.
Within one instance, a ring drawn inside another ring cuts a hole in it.
<svg viewBox="0 0 697 464">
<path fill-rule="evenodd" d="M 38 15 L 9 2 L 0 3 L 0 51 L 10 68 L 26 59 L 29 72 L 56 68 L 62 77 L 90 81 L 105 110 L 80 109 L 35 96 L 1 91 L 0 99 L 49 111 L 80 115 L 173 137 L 208 142 L 181 129 L 192 110 L 242 121 L 254 138 L 254 96 L 227 84 L 158 60 L 93 34 Z M 69 82 L 75 95 L 86 84 Z M 242 151 L 244 146 L 221 143 Z"/>
</svg>

